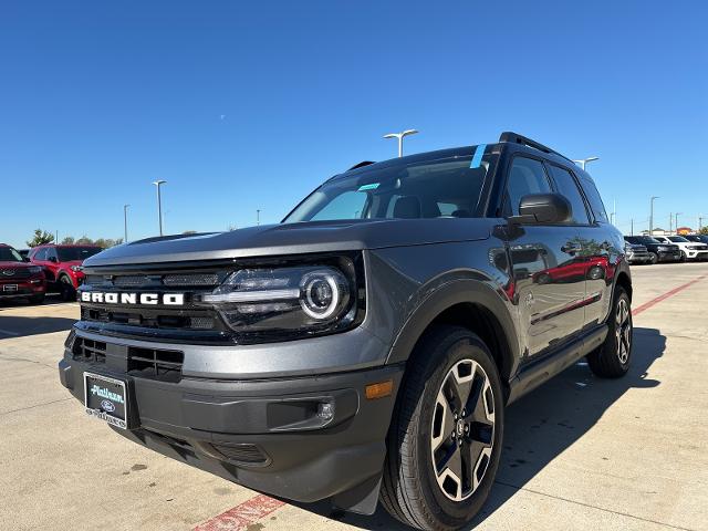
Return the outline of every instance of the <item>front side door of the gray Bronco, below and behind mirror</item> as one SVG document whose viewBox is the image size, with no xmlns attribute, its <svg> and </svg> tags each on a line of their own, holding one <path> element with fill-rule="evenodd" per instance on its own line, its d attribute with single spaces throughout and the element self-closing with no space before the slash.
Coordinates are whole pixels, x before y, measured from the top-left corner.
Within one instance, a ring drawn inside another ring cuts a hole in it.
<svg viewBox="0 0 708 531">
<path fill-rule="evenodd" d="M 503 196 L 506 216 L 529 194 L 552 190 L 543 162 L 514 155 Z M 542 355 L 576 335 L 583 324 L 585 263 L 574 225 L 523 226 L 509 241 L 514 299 L 528 356 Z"/>
</svg>

